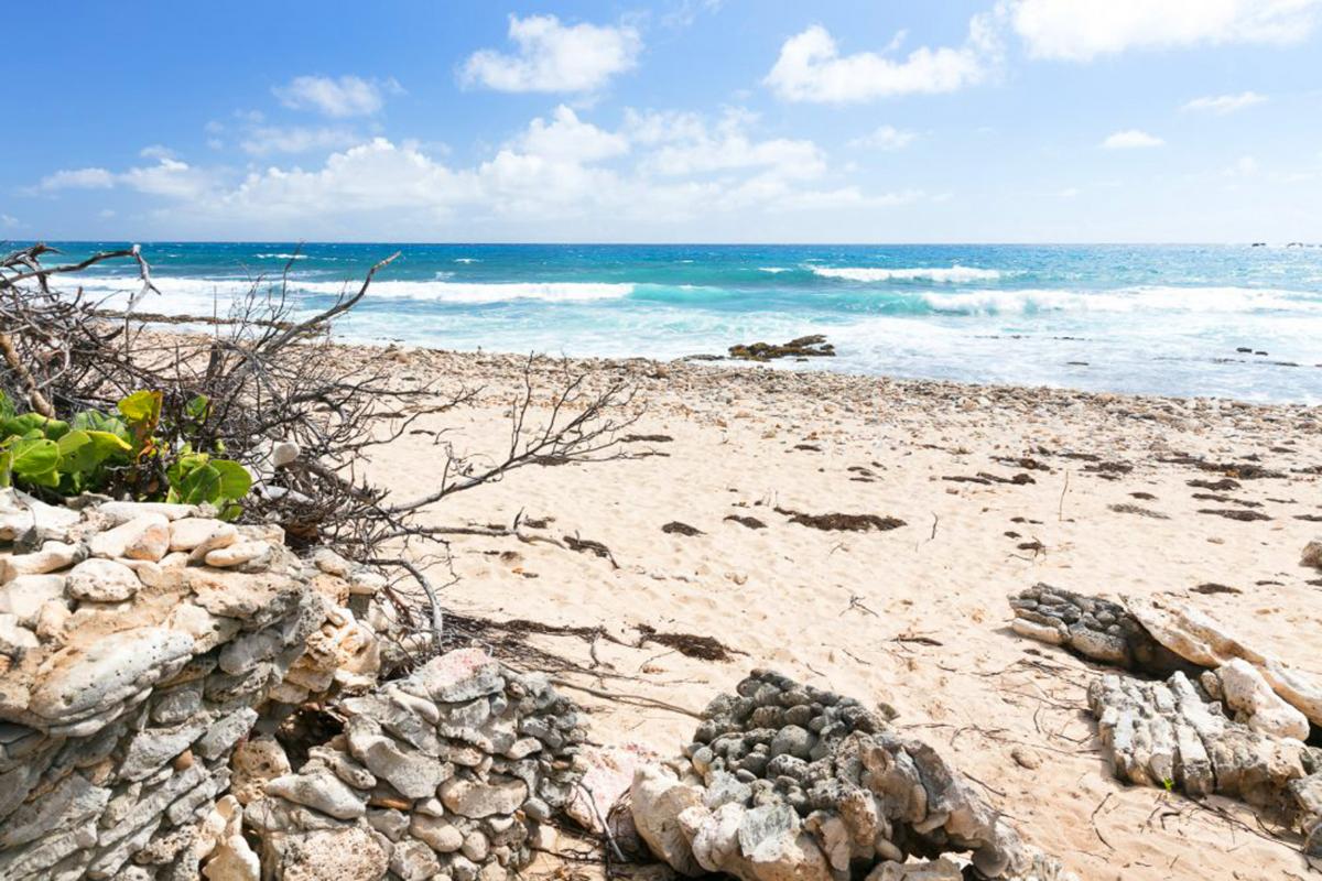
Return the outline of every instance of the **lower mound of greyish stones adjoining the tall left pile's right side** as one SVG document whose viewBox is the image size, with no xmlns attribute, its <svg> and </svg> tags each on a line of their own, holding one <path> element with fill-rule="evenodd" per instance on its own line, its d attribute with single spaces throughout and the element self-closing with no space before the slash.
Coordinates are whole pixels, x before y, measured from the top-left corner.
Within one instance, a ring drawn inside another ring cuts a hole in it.
<svg viewBox="0 0 1322 881">
<path fill-rule="evenodd" d="M 342 733 L 296 773 L 279 745 L 234 757 L 262 866 L 284 878 L 501 881 L 575 795 L 575 705 L 480 650 L 435 658 L 337 708 Z"/>
</svg>

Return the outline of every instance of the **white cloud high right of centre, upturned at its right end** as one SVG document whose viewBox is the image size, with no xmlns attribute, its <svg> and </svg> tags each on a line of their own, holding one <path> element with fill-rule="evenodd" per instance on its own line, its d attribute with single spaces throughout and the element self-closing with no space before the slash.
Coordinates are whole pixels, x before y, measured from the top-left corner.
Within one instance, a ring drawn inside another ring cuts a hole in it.
<svg viewBox="0 0 1322 881">
<path fill-rule="evenodd" d="M 896 46 L 891 42 L 884 52 Z M 951 92 L 982 81 L 999 54 L 988 16 L 969 22 L 960 48 L 920 46 L 903 59 L 883 53 L 841 55 L 836 40 L 813 25 L 787 40 L 776 65 L 763 81 L 785 100 L 851 103 L 895 95 Z"/>
</svg>

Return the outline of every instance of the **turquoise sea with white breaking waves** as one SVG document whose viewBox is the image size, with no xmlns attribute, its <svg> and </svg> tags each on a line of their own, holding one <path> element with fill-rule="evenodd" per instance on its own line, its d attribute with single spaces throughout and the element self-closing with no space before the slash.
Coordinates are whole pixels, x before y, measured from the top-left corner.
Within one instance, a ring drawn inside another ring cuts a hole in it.
<svg viewBox="0 0 1322 881">
<path fill-rule="evenodd" d="M 143 247 L 164 297 L 140 308 L 206 314 L 296 250 Z M 1322 403 L 1322 248 L 307 244 L 295 302 L 325 306 L 395 250 L 346 337 L 674 358 L 821 333 L 839 357 L 791 369 Z M 82 284 L 115 299 L 132 275 Z"/>
</svg>

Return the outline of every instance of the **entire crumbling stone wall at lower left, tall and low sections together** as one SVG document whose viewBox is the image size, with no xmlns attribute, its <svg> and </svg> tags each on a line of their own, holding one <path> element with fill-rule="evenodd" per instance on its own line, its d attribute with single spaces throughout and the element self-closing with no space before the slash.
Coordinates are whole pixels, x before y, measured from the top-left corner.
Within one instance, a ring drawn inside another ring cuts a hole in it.
<svg viewBox="0 0 1322 881">
<path fill-rule="evenodd" d="M 480 651 L 378 684 L 349 606 L 383 619 L 379 576 L 206 514 L 0 491 L 0 877 L 526 865 L 574 791 L 574 705 Z M 342 732 L 291 736 L 309 700 Z"/>
</svg>

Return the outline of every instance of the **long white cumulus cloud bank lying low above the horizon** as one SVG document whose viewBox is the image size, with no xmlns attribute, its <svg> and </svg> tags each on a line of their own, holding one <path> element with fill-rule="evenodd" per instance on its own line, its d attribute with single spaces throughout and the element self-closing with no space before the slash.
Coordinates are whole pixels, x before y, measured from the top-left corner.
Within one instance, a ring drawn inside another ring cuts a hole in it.
<svg viewBox="0 0 1322 881">
<path fill-rule="evenodd" d="M 465 165 L 451 165 L 443 153 L 415 143 L 375 137 L 337 149 L 317 166 L 271 164 L 239 177 L 163 157 L 124 172 L 57 172 L 44 189 L 134 189 L 159 197 L 173 225 L 303 234 L 341 219 L 354 229 L 385 230 L 500 218 L 559 235 L 564 223 L 603 217 L 657 225 L 924 198 L 916 190 L 873 194 L 839 185 L 817 144 L 759 137 L 758 125 L 755 115 L 739 110 L 717 119 L 631 111 L 608 128 L 559 106 Z"/>
</svg>

